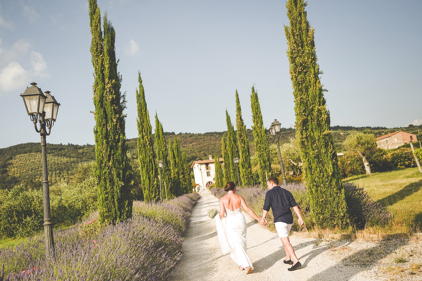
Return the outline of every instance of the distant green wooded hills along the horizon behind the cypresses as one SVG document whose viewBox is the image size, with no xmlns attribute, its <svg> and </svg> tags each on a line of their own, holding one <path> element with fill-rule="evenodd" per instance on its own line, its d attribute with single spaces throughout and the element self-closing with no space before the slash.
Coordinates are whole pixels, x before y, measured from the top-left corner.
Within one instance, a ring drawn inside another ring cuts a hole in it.
<svg viewBox="0 0 422 281">
<path fill-rule="evenodd" d="M 417 135 L 418 140 L 422 139 L 422 125 L 409 126 L 405 128 L 385 128 L 385 127 L 352 127 L 352 126 L 334 126 L 331 127 L 333 141 L 337 152 L 344 151 L 343 141 L 353 130 L 373 133 L 375 136 L 381 136 L 390 132 L 403 130 L 405 132 Z M 188 161 L 192 163 L 195 160 L 208 159 L 208 155 L 221 155 L 221 139 L 227 132 L 206 132 L 203 134 L 165 132 L 167 142 L 173 141 L 173 138 L 179 139 L 182 151 L 186 151 Z M 254 137 L 252 130 L 246 130 L 248 136 L 251 155 L 255 153 Z M 275 143 L 273 137 L 267 131 L 268 140 Z M 281 128 L 280 144 L 289 142 L 289 138 L 295 136 L 295 129 Z M 152 135 L 154 138 L 154 135 Z M 136 159 L 137 148 L 136 138 L 127 140 L 129 153 L 133 159 Z M 40 143 L 22 143 L 15 146 L 0 149 L 0 189 L 10 189 L 16 184 L 24 182 L 28 187 L 41 187 L 41 144 Z M 71 181 L 72 166 L 78 162 L 90 161 L 95 159 L 95 146 L 64 144 L 47 144 L 47 164 L 49 171 L 49 180 L 52 183 L 61 178 Z"/>
</svg>

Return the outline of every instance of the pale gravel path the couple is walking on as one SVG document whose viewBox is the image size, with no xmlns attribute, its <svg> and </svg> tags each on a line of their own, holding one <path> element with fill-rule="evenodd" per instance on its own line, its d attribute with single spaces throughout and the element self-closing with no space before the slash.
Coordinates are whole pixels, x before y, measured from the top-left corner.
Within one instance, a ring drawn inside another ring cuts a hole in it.
<svg viewBox="0 0 422 281">
<path fill-rule="evenodd" d="M 255 269 L 252 274 L 245 275 L 245 271 L 238 270 L 230 255 L 222 255 L 215 222 L 207 216 L 207 210 L 211 208 L 218 209 L 219 200 L 210 192 L 203 191 L 193 209 L 191 224 L 184 233 L 182 262 L 171 280 L 422 280 L 419 273 L 407 279 L 406 276 L 386 276 L 377 270 L 374 266 L 376 260 L 381 261 L 388 253 L 375 251 L 379 249 L 376 242 L 295 236 L 291 236 L 290 241 L 302 267 L 290 272 L 287 270 L 289 265 L 283 263 L 285 253 L 278 235 L 257 224 L 246 213 L 248 255 Z M 389 250 L 392 252 L 406 242 L 393 243 L 393 248 Z M 415 243 L 420 245 L 420 241 Z M 373 256 L 364 257 L 366 263 L 362 262 L 361 257 L 368 251 L 374 252 Z"/>
</svg>

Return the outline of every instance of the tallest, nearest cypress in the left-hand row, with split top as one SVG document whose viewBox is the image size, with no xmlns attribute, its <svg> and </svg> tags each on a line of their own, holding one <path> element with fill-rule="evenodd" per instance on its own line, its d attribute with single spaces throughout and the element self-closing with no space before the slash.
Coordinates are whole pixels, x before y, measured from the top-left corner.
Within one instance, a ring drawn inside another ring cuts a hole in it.
<svg viewBox="0 0 422 281">
<path fill-rule="evenodd" d="M 95 77 L 93 100 L 98 211 L 101 222 L 115 223 L 132 217 L 123 114 L 126 100 L 120 92 L 122 77 L 117 72 L 116 32 L 105 14 L 103 36 L 96 0 L 89 0 L 89 26 Z"/>
</svg>

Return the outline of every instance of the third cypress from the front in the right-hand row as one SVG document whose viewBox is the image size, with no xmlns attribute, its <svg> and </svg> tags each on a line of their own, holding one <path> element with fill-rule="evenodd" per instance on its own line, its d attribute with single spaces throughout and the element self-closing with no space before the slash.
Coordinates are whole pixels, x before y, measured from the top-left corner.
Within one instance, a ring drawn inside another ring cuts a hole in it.
<svg viewBox="0 0 422 281">
<path fill-rule="evenodd" d="M 252 165 L 251 154 L 249 151 L 249 142 L 246 136 L 246 126 L 242 119 L 242 110 L 240 107 L 239 94 L 236 90 L 236 132 L 239 147 L 239 172 L 241 184 L 252 185 Z"/>
</svg>

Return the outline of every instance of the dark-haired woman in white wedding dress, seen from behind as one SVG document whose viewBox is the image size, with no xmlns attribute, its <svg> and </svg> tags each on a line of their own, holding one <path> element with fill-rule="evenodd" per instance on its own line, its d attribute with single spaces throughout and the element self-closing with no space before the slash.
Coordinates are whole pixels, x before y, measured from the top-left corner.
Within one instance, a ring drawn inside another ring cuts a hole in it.
<svg viewBox="0 0 422 281">
<path fill-rule="evenodd" d="M 219 218 L 222 219 L 221 222 L 225 232 L 223 236 L 227 238 L 228 246 L 230 246 L 230 257 L 237 263 L 240 270 L 246 269 L 246 274 L 249 274 L 254 267 L 248 254 L 246 254 L 246 220 L 241 212 L 241 208 L 243 207 L 246 213 L 263 225 L 265 225 L 265 220 L 258 217 L 246 205 L 243 197 L 235 194 L 236 186 L 233 181 L 229 181 L 224 190 L 227 191 L 227 195 L 220 198 L 219 213 Z M 221 241 L 220 244 L 223 249 Z M 223 254 L 224 251 L 223 249 Z"/>
</svg>

